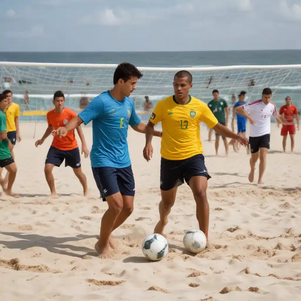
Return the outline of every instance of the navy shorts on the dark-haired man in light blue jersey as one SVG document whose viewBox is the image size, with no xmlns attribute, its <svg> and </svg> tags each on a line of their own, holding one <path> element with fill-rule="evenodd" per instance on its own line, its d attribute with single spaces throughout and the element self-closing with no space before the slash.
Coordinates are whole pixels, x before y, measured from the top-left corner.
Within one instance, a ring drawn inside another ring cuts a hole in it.
<svg viewBox="0 0 301 301">
<path fill-rule="evenodd" d="M 135 195 L 135 180 L 131 165 L 123 168 L 92 167 L 92 172 L 103 201 L 117 192 L 131 197 Z"/>
</svg>

